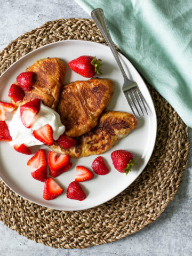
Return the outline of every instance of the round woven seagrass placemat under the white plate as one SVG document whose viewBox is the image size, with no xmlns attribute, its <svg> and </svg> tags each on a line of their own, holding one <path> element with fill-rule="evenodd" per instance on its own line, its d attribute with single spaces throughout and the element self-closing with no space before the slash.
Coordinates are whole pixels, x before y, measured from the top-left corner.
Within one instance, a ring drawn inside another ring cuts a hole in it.
<svg viewBox="0 0 192 256">
<path fill-rule="evenodd" d="M 0 53 L 0 74 L 26 53 L 52 42 L 82 39 L 105 44 L 92 20 L 46 22 L 12 41 Z M 188 127 L 149 85 L 158 119 L 155 149 L 132 185 L 109 202 L 90 210 L 67 212 L 31 203 L 0 180 L 0 220 L 19 234 L 52 247 L 85 248 L 113 242 L 156 220 L 182 182 L 188 163 Z"/>
</svg>

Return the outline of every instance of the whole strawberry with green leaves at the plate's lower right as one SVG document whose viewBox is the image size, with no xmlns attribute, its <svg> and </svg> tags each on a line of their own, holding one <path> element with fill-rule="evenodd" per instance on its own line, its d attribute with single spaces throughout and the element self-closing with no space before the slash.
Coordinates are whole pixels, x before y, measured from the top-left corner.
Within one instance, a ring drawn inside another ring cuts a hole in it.
<svg viewBox="0 0 192 256">
<path fill-rule="evenodd" d="M 116 150 L 111 153 L 111 159 L 115 166 L 115 169 L 119 172 L 125 172 L 126 174 L 131 171 L 135 163 L 134 156 L 127 150 Z"/>
</svg>

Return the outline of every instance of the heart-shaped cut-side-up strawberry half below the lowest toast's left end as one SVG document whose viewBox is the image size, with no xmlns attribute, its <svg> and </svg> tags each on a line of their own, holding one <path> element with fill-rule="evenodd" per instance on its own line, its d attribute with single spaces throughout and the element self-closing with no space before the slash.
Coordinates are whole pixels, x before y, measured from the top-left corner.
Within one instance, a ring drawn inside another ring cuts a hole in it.
<svg viewBox="0 0 192 256">
<path fill-rule="evenodd" d="M 50 167 L 50 172 L 53 172 L 61 169 L 62 167 L 66 167 L 70 161 L 70 156 L 68 155 L 60 155 L 57 156 L 53 151 L 49 151 L 48 155 L 48 164 Z M 54 175 L 54 174 L 53 174 Z"/>
</svg>

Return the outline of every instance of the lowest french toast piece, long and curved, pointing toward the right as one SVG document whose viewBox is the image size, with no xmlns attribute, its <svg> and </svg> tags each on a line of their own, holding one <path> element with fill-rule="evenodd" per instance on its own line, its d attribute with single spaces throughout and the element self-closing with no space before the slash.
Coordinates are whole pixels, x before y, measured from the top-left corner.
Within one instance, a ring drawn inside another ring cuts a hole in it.
<svg viewBox="0 0 192 256">
<path fill-rule="evenodd" d="M 50 148 L 58 154 L 74 158 L 98 155 L 107 151 L 115 143 L 137 127 L 137 119 L 126 112 L 106 111 L 99 119 L 98 126 L 77 138 L 77 144 L 63 149 L 56 141 Z"/>
</svg>

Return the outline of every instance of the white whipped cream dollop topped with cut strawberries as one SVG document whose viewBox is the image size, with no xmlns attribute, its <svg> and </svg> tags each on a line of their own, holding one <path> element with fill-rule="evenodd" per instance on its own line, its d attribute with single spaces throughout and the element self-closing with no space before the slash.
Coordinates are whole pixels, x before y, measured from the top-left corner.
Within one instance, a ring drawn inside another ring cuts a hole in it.
<svg viewBox="0 0 192 256">
<path fill-rule="evenodd" d="M 43 145 L 43 142 L 35 139 L 33 131 L 40 129 L 46 124 L 52 127 L 54 140 L 58 140 L 60 135 L 65 132 L 65 126 L 61 123 L 60 115 L 53 109 L 43 105 L 42 102 L 39 112 L 34 118 L 34 123 L 30 128 L 26 128 L 21 122 L 19 107 L 9 123 L 9 131 L 12 137 L 12 141 L 9 142 L 10 145 L 13 146 L 22 143 L 28 147 Z"/>
</svg>

